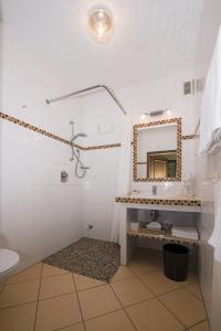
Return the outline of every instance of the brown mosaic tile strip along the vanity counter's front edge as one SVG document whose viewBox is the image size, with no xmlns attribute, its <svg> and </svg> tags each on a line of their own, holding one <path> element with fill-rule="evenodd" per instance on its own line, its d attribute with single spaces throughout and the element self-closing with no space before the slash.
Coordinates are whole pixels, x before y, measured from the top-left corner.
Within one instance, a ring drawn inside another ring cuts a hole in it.
<svg viewBox="0 0 221 331">
<path fill-rule="evenodd" d="M 120 203 L 201 206 L 201 200 L 198 199 L 183 200 L 183 199 L 151 199 L 151 197 L 149 199 L 149 197 L 117 196 L 115 201 Z"/>
</svg>

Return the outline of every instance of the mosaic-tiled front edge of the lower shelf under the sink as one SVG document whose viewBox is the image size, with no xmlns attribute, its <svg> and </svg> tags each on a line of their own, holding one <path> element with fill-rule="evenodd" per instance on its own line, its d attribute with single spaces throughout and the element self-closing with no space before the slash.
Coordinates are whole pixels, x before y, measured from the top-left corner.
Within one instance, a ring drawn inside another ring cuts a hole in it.
<svg viewBox="0 0 221 331">
<path fill-rule="evenodd" d="M 159 241 L 159 242 L 170 242 L 170 243 L 179 243 L 179 244 L 186 244 L 186 245 L 199 245 L 200 241 L 199 239 L 190 239 L 190 238 L 181 238 L 181 237 L 175 237 L 172 235 L 166 235 L 166 234 L 150 234 L 147 232 L 141 232 L 141 231 L 128 231 L 127 235 L 129 237 L 143 237 L 143 238 L 148 238 L 148 239 L 154 239 L 154 241 Z"/>
</svg>

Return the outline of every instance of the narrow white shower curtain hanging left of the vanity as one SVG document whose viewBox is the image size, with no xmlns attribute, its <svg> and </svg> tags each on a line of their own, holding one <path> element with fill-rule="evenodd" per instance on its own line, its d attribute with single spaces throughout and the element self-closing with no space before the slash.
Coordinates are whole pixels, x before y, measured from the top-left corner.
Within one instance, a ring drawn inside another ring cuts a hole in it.
<svg viewBox="0 0 221 331">
<path fill-rule="evenodd" d="M 123 138 L 119 154 L 117 189 L 116 196 L 127 195 L 130 190 L 131 181 L 131 132 L 133 122 L 129 115 L 124 117 Z M 113 222 L 110 227 L 110 241 L 118 243 L 119 241 L 119 222 L 122 220 L 122 205 L 115 203 Z"/>
</svg>

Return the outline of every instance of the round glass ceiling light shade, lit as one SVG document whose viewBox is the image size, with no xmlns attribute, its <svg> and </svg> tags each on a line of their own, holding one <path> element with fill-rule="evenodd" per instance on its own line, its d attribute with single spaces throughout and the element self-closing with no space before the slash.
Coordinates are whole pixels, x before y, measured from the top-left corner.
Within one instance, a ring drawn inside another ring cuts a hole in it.
<svg viewBox="0 0 221 331">
<path fill-rule="evenodd" d="M 106 8 L 95 8 L 90 11 L 88 26 L 93 38 L 99 43 L 107 43 L 114 32 L 114 19 Z"/>
</svg>

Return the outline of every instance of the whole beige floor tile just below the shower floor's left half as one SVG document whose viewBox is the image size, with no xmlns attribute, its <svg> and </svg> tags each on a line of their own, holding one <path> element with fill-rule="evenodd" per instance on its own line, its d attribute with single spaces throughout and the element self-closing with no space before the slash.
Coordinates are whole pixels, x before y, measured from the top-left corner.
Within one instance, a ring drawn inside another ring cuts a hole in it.
<svg viewBox="0 0 221 331">
<path fill-rule="evenodd" d="M 72 274 L 46 277 L 41 280 L 40 300 L 75 291 Z"/>
</svg>

